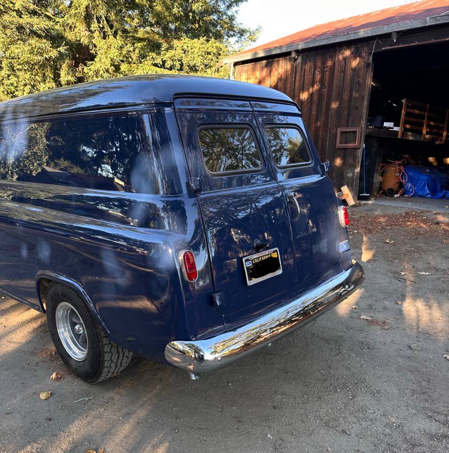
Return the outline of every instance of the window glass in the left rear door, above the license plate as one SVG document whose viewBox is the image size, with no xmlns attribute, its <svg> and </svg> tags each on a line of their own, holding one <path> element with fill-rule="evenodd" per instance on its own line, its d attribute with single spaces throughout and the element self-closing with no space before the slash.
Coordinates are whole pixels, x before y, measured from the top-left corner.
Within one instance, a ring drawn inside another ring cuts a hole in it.
<svg viewBox="0 0 449 453">
<path fill-rule="evenodd" d="M 262 169 L 262 158 L 251 129 L 203 127 L 200 146 L 206 168 L 214 174 L 242 173 Z"/>
</svg>

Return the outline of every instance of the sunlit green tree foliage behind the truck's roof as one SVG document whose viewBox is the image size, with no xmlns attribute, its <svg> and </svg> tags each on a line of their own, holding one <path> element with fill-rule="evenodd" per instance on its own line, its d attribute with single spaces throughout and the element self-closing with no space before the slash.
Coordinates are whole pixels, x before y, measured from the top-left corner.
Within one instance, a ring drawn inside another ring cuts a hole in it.
<svg viewBox="0 0 449 453">
<path fill-rule="evenodd" d="M 1 0 L 0 100 L 120 75 L 226 77 L 246 0 Z"/>
</svg>

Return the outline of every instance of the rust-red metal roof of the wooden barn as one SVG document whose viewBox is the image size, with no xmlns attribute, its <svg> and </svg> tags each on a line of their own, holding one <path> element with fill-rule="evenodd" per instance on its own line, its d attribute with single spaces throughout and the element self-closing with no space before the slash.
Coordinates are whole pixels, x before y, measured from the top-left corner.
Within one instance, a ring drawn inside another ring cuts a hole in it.
<svg viewBox="0 0 449 453">
<path fill-rule="evenodd" d="M 387 8 L 372 13 L 361 14 L 326 24 L 316 25 L 306 30 L 293 33 L 275 41 L 236 53 L 230 58 L 237 60 L 239 55 L 281 47 L 289 44 L 302 43 L 319 38 L 338 37 L 352 32 L 361 32 L 386 25 L 399 24 L 428 17 L 449 14 L 449 0 L 423 0 L 422 2 Z"/>
</svg>

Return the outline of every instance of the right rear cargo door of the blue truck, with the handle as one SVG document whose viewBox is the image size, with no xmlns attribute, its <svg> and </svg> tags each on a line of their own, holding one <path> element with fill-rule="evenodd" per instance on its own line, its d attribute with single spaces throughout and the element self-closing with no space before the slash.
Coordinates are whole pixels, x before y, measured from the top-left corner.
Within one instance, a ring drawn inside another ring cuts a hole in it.
<svg viewBox="0 0 449 453">
<path fill-rule="evenodd" d="M 252 103 L 269 159 L 289 205 L 299 284 L 309 286 L 341 259 L 338 202 L 295 106 Z M 306 289 L 306 288 L 304 288 Z"/>
</svg>

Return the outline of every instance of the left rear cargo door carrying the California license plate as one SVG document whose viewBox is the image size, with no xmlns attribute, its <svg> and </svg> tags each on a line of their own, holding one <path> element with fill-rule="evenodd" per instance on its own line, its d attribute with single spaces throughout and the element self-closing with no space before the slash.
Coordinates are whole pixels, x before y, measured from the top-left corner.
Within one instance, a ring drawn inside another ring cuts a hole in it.
<svg viewBox="0 0 449 453">
<path fill-rule="evenodd" d="M 178 99 L 175 107 L 190 175 L 201 183 L 217 309 L 229 314 L 291 289 L 296 273 L 286 204 L 250 103 Z M 256 252 L 261 256 L 244 261 Z M 263 272 L 248 280 L 245 267 L 255 264 Z"/>
</svg>

